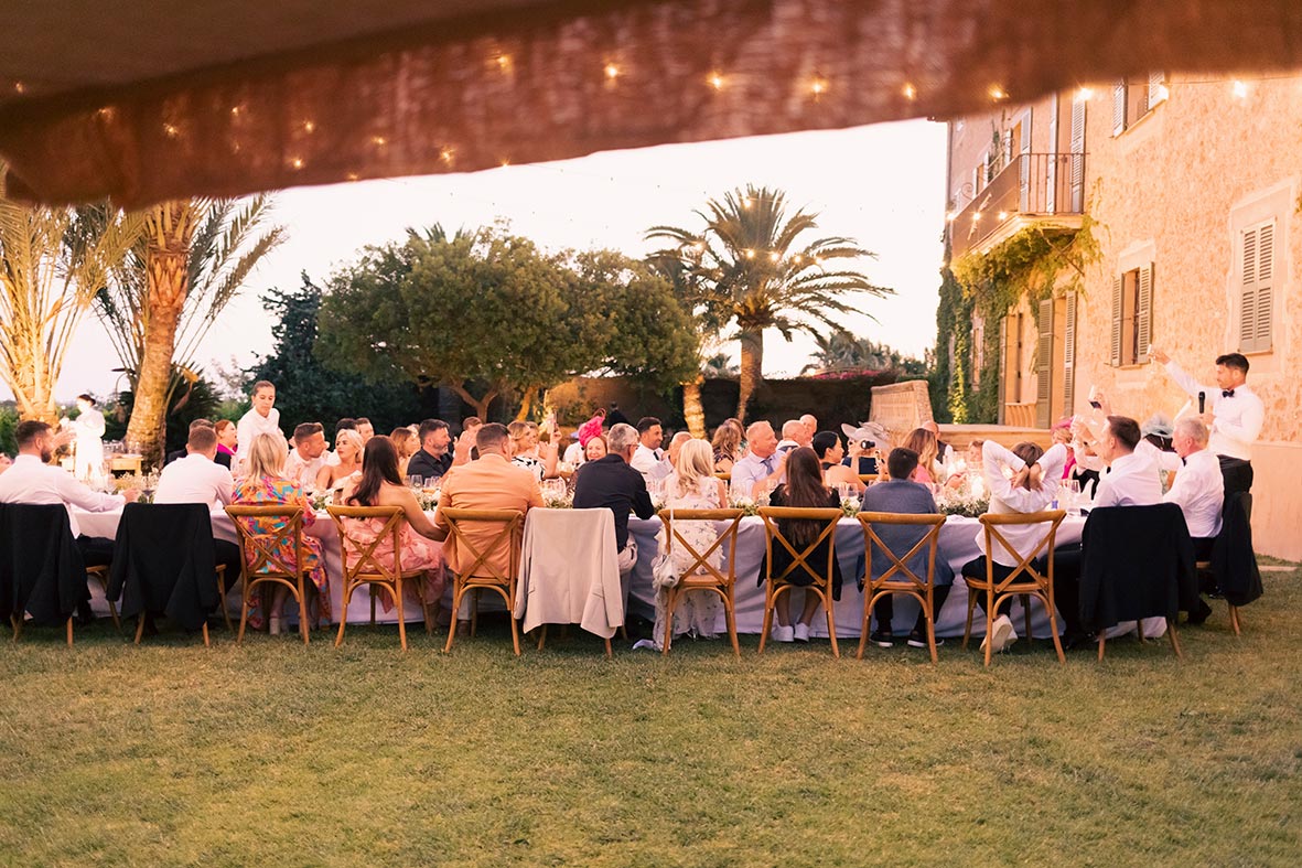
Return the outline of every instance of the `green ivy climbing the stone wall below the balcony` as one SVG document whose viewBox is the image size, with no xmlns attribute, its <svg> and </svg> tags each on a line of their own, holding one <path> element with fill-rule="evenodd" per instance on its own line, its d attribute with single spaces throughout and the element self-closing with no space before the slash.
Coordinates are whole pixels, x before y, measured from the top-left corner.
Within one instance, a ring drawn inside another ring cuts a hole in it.
<svg viewBox="0 0 1302 868">
<path fill-rule="evenodd" d="M 1082 218 L 1079 229 L 1029 227 L 988 253 L 969 253 L 940 271 L 936 309 L 936 366 L 932 412 L 940 421 L 992 425 L 999 420 L 1000 335 L 1009 309 L 1026 296 L 1031 309 L 1053 292 L 1079 291 L 1085 270 L 1099 258 L 1096 223 Z M 973 386 L 973 322 L 986 323 L 982 369 Z M 953 358 L 949 336 L 954 336 Z"/>
</svg>

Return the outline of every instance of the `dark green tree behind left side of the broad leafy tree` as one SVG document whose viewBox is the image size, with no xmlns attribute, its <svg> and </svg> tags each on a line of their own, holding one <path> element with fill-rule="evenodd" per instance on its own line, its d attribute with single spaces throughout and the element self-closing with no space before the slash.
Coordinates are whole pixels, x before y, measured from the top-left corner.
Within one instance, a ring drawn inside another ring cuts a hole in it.
<svg viewBox="0 0 1302 868">
<path fill-rule="evenodd" d="M 367 382 L 357 374 L 327 369 L 314 354 L 322 288 L 306 274 L 292 292 L 271 289 L 262 301 L 276 318 L 275 345 L 246 371 L 247 383 L 266 379 L 276 384 L 276 407 L 283 425 L 322 422 L 329 429 L 345 416 L 367 416 L 379 434 L 398 425 L 437 414 L 437 396 L 422 392 L 398 377 Z"/>
</svg>

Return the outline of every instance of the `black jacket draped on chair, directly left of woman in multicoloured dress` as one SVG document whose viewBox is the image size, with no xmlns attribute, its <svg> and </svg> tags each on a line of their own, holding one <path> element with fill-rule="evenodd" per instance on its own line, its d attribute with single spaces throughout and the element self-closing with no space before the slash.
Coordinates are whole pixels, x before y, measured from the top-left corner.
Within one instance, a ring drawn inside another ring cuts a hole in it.
<svg viewBox="0 0 1302 868">
<path fill-rule="evenodd" d="M 163 613 L 198 629 L 220 602 L 212 519 L 202 503 L 128 503 L 117 525 L 108 598 L 122 616 Z"/>
</svg>

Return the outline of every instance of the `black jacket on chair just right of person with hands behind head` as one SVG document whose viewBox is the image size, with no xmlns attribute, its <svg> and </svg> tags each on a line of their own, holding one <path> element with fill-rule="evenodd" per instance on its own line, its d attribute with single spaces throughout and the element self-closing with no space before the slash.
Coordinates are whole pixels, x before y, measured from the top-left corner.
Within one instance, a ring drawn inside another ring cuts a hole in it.
<svg viewBox="0 0 1302 868">
<path fill-rule="evenodd" d="M 1197 606 L 1194 542 L 1174 503 L 1101 507 L 1081 537 L 1081 624 L 1169 618 Z"/>
</svg>

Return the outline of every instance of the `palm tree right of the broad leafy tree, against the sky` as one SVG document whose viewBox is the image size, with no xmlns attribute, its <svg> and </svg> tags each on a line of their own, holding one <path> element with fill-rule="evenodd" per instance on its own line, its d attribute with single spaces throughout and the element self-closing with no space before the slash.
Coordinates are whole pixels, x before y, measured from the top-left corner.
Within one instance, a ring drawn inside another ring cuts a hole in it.
<svg viewBox="0 0 1302 868">
<path fill-rule="evenodd" d="M 819 326 L 837 328 L 832 314 L 853 310 L 842 293 L 884 296 L 892 291 L 849 266 L 828 270 L 833 261 L 874 257 L 853 239 L 832 236 L 798 246 L 799 236 L 816 228 L 818 215 L 797 210 L 788 218 L 781 190 L 747 185 L 721 202 L 710 199 L 695 214 L 704 222 L 699 232 L 671 225 L 647 231 L 648 240 L 669 242 L 650 262 L 665 274 L 680 274 L 674 283 L 690 293 L 704 328 L 717 334 L 737 325 L 737 416 L 745 420 L 763 378 L 766 328 L 777 328 L 786 340 L 797 331 L 818 334 Z"/>
</svg>

